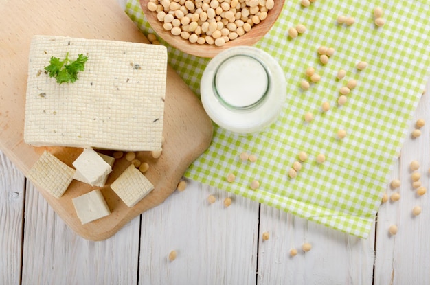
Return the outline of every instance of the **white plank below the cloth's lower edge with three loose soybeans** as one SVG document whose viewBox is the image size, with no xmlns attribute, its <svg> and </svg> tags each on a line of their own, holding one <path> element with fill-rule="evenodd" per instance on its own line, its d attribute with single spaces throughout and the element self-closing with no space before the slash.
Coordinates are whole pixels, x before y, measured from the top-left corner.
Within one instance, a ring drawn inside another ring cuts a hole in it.
<svg viewBox="0 0 430 285">
<path fill-rule="evenodd" d="M 269 240 L 262 240 L 264 232 Z M 372 284 L 373 237 L 374 230 L 357 238 L 262 205 L 258 284 Z M 312 244 L 306 253 L 304 242 Z"/>
</svg>

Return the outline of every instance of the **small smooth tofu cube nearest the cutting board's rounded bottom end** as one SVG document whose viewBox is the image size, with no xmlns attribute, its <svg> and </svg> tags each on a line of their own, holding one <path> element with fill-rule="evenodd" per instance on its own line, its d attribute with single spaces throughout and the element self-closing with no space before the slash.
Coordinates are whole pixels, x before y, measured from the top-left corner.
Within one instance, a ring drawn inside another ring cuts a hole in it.
<svg viewBox="0 0 430 285">
<path fill-rule="evenodd" d="M 99 189 L 71 199 L 82 225 L 111 214 Z"/>
</svg>

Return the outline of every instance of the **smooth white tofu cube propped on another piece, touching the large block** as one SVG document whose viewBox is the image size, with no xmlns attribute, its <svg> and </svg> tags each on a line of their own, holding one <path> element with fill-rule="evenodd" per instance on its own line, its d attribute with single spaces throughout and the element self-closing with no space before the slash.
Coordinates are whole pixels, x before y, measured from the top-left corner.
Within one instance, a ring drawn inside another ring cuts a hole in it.
<svg viewBox="0 0 430 285">
<path fill-rule="evenodd" d="M 112 167 L 109 163 L 104 161 L 93 148 L 85 148 L 79 157 L 71 164 L 73 164 L 76 170 L 83 176 L 84 179 L 81 181 L 91 186 L 102 184 L 106 176 L 112 172 Z M 75 176 L 74 178 L 79 178 L 79 176 Z"/>
</svg>

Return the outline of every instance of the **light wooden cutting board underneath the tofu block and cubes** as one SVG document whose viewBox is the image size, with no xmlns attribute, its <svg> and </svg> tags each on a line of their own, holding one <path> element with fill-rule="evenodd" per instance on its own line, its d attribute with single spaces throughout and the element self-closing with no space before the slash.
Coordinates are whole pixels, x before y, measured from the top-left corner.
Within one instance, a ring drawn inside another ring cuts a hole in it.
<svg viewBox="0 0 430 285">
<path fill-rule="evenodd" d="M 24 174 L 45 149 L 69 165 L 82 152 L 80 148 L 36 148 L 23 141 L 28 52 L 35 34 L 148 43 L 115 0 L 0 2 L 0 149 Z M 109 238 L 129 220 L 159 205 L 174 192 L 190 163 L 209 146 L 212 139 L 212 122 L 201 102 L 170 67 L 163 136 L 166 141 L 159 159 L 152 159 L 146 152 L 138 153 L 138 158 L 150 165 L 146 176 L 155 185 L 155 190 L 135 207 L 128 208 L 109 187 L 129 165 L 126 159 L 115 161 L 113 172 L 106 186 L 102 187 L 111 215 L 89 224 L 81 225 L 71 198 L 95 187 L 73 181 L 59 199 L 43 189 L 38 190 L 80 236 L 89 240 Z"/>
</svg>

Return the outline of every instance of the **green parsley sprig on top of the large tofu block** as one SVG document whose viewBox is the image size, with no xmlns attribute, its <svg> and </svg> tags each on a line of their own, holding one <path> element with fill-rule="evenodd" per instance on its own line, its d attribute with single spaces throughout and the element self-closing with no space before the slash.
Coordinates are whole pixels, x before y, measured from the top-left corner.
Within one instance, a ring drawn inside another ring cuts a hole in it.
<svg viewBox="0 0 430 285">
<path fill-rule="evenodd" d="M 49 77 L 55 77 L 59 84 L 73 83 L 78 80 L 79 71 L 84 71 L 87 60 L 88 56 L 83 54 L 79 54 L 76 60 L 71 60 L 69 59 L 69 52 L 67 52 L 64 60 L 52 56 L 45 70 L 48 72 Z"/>
</svg>

